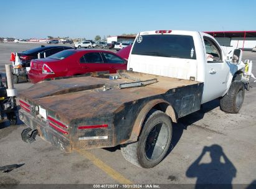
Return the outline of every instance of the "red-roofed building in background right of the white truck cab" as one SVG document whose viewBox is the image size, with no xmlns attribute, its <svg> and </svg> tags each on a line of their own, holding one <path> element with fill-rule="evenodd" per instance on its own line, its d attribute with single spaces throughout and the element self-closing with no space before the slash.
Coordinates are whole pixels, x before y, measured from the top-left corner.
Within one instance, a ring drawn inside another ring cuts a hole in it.
<svg viewBox="0 0 256 189">
<path fill-rule="evenodd" d="M 252 50 L 256 46 L 256 30 L 205 32 L 212 35 L 220 45 L 242 50 Z"/>
</svg>

